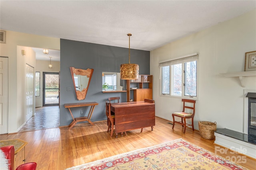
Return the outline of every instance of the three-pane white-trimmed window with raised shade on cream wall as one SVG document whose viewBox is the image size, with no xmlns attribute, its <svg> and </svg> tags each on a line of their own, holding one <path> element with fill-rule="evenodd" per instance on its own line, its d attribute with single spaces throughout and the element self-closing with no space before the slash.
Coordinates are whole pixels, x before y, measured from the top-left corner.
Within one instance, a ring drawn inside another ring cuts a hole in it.
<svg viewBox="0 0 256 170">
<path fill-rule="evenodd" d="M 160 62 L 161 95 L 197 98 L 198 53 Z"/>
</svg>

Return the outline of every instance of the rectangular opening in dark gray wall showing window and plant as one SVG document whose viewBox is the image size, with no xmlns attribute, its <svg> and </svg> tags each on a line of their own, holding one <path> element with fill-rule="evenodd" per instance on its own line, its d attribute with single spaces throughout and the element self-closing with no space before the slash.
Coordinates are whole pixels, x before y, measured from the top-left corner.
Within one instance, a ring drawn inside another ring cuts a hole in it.
<svg viewBox="0 0 256 170">
<path fill-rule="evenodd" d="M 102 91 L 122 91 L 120 72 L 102 72 Z"/>
</svg>

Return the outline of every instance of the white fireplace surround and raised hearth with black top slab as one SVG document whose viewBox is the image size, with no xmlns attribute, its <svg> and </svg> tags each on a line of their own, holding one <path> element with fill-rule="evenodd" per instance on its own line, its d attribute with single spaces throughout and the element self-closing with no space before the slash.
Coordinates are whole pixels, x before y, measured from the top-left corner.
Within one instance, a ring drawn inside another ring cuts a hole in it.
<svg viewBox="0 0 256 170">
<path fill-rule="evenodd" d="M 256 159 L 256 89 L 244 89 L 243 115 L 243 132 L 217 129 L 214 143 Z"/>
</svg>

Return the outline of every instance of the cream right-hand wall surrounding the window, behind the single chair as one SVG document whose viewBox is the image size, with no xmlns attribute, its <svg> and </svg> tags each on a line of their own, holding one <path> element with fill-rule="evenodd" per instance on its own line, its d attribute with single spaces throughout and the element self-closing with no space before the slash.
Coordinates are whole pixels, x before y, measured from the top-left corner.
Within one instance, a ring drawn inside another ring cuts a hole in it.
<svg viewBox="0 0 256 170">
<path fill-rule="evenodd" d="M 172 121 L 171 113 L 182 109 L 180 98 L 160 96 L 158 63 L 198 52 L 195 128 L 198 121 L 216 121 L 217 128 L 243 132 L 243 90 L 256 89 L 256 76 L 245 77 L 242 88 L 238 78 L 220 73 L 244 71 L 249 51 L 256 51 L 256 10 L 150 51 L 156 116 Z"/>
</svg>

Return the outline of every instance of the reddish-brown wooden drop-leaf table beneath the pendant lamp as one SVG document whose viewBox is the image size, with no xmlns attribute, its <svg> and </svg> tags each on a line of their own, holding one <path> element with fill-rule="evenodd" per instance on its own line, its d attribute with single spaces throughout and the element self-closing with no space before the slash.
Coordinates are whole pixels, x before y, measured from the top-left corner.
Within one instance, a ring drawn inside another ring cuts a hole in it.
<svg viewBox="0 0 256 170">
<path fill-rule="evenodd" d="M 150 102 L 126 102 L 111 104 L 115 113 L 115 133 L 143 129 L 155 125 L 155 104 Z M 142 130 L 141 130 L 142 132 Z"/>
</svg>

